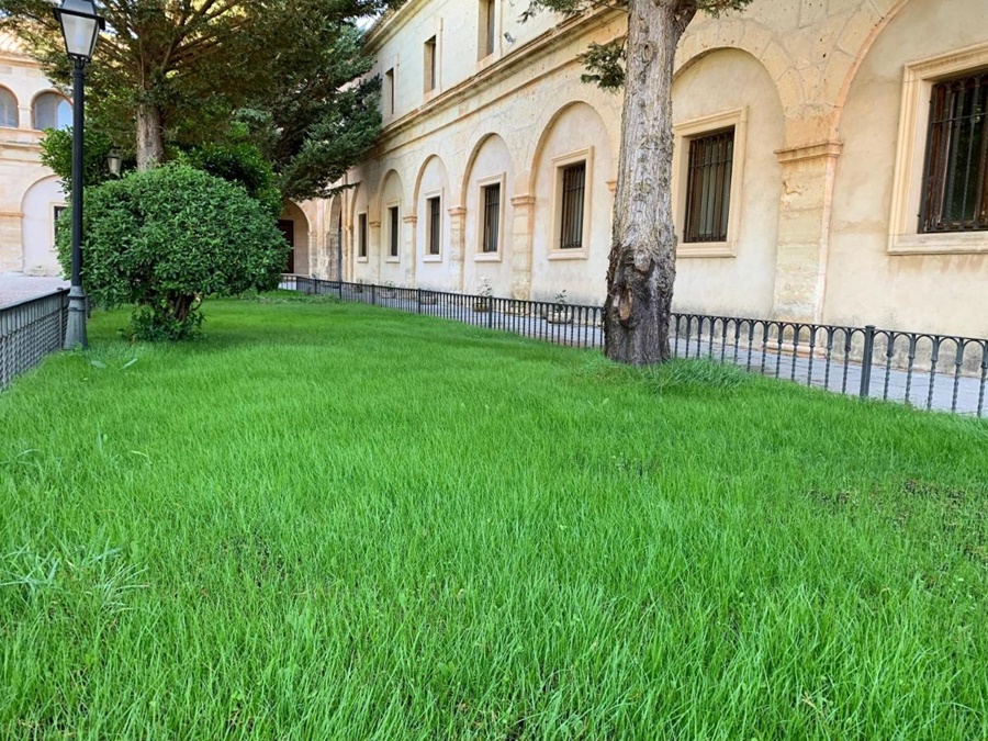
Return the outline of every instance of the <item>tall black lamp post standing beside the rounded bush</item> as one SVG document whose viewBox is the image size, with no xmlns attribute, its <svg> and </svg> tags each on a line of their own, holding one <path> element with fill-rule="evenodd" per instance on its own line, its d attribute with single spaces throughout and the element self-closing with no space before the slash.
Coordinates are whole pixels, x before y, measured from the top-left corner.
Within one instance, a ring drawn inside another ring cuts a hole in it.
<svg viewBox="0 0 988 741">
<path fill-rule="evenodd" d="M 86 348 L 86 293 L 82 291 L 82 106 L 86 65 L 92 59 L 100 30 L 106 22 L 97 15 L 92 0 L 61 0 L 55 18 L 72 60 L 72 276 L 69 289 L 65 349 Z"/>
</svg>

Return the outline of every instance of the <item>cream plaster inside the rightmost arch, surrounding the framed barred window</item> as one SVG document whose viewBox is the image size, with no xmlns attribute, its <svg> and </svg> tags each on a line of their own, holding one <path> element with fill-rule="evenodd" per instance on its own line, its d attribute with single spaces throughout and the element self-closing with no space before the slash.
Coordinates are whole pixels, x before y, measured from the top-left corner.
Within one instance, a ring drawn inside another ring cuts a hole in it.
<svg viewBox="0 0 988 741">
<path fill-rule="evenodd" d="M 986 41 L 983 0 L 911 2 L 861 65 L 840 126 L 828 322 L 988 336 L 988 254 L 888 252 L 903 65 Z"/>
</svg>

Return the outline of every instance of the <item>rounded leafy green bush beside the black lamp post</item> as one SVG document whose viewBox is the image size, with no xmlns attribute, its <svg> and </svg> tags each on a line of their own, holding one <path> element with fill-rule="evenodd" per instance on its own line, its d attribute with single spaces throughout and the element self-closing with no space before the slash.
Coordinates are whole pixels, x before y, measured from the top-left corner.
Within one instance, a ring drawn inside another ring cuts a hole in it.
<svg viewBox="0 0 988 741">
<path fill-rule="evenodd" d="M 71 262 L 67 218 L 58 257 Z M 271 214 L 235 184 L 187 166 L 133 172 L 87 191 L 82 279 L 100 304 L 136 304 L 138 339 L 188 339 L 203 295 L 278 284 L 288 245 Z"/>
</svg>

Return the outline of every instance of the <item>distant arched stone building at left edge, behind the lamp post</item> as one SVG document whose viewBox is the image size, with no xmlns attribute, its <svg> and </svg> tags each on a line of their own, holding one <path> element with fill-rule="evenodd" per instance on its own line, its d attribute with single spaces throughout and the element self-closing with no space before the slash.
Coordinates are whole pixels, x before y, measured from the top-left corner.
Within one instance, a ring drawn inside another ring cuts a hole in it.
<svg viewBox="0 0 988 741">
<path fill-rule="evenodd" d="M 0 274 L 58 276 L 58 178 L 41 164 L 44 128 L 71 125 L 71 101 L 19 43 L 0 34 Z"/>
</svg>

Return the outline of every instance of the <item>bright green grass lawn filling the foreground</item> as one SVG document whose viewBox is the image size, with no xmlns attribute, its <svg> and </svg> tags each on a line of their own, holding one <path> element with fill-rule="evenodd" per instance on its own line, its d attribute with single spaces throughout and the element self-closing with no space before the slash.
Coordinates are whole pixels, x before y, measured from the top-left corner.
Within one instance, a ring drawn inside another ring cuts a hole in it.
<svg viewBox="0 0 988 741">
<path fill-rule="evenodd" d="M 0 394 L 0 738 L 988 737 L 988 424 L 206 314 Z"/>
</svg>

